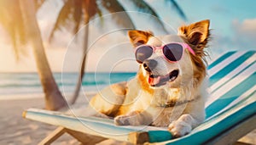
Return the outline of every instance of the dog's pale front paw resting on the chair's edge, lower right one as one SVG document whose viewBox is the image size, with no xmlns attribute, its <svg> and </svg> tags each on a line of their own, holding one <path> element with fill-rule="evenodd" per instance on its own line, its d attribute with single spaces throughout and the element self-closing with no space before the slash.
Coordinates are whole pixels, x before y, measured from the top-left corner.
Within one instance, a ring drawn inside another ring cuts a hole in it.
<svg viewBox="0 0 256 145">
<path fill-rule="evenodd" d="M 192 130 L 191 125 L 184 121 L 173 121 L 169 126 L 168 130 L 172 132 L 173 137 L 183 137 Z"/>
</svg>

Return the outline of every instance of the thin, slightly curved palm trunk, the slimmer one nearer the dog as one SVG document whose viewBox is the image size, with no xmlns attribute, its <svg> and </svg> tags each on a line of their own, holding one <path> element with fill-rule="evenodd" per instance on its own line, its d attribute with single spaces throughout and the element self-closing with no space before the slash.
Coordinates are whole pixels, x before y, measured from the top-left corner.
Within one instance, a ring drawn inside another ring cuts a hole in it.
<svg viewBox="0 0 256 145">
<path fill-rule="evenodd" d="M 73 98 L 71 100 L 71 104 L 75 103 L 77 98 L 79 97 L 79 92 L 80 92 L 81 85 L 82 85 L 83 78 L 84 78 L 84 68 L 85 68 L 85 64 L 86 64 L 88 39 L 89 39 L 89 20 L 90 20 L 90 18 L 88 16 L 88 14 L 85 15 L 84 19 L 85 19 L 84 20 L 84 23 L 85 23 L 85 28 L 84 28 L 84 44 L 83 44 L 84 53 L 83 53 L 83 56 L 82 56 L 83 58 L 82 58 L 81 69 L 79 71 L 79 78 L 78 78 L 78 81 L 77 81 L 75 92 L 73 94 Z"/>
</svg>

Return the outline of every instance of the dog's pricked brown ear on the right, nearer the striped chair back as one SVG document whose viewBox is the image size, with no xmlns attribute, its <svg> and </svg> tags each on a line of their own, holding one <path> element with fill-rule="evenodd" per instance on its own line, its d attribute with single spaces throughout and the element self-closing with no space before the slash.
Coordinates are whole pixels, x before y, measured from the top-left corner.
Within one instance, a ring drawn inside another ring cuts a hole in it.
<svg viewBox="0 0 256 145">
<path fill-rule="evenodd" d="M 210 20 L 202 20 L 191 25 L 183 25 L 178 29 L 178 34 L 185 36 L 192 45 L 207 44 Z"/>
</svg>

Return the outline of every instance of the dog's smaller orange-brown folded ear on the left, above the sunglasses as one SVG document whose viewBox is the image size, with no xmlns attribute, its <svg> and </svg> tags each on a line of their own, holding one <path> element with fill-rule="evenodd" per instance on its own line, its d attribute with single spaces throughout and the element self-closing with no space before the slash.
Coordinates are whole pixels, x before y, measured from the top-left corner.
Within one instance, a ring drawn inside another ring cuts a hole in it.
<svg viewBox="0 0 256 145">
<path fill-rule="evenodd" d="M 148 42 L 148 38 L 153 36 L 151 31 L 128 31 L 133 47 L 137 47 Z"/>
</svg>

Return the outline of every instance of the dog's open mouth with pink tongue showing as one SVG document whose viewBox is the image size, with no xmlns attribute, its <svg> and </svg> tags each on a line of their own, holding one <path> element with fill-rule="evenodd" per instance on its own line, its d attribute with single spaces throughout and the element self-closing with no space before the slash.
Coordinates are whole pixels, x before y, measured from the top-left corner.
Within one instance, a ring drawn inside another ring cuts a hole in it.
<svg viewBox="0 0 256 145">
<path fill-rule="evenodd" d="M 173 70 L 167 75 L 153 75 L 152 73 L 148 76 L 148 84 L 150 86 L 163 86 L 166 85 L 167 81 L 175 81 L 178 75 L 178 70 Z"/>
</svg>

